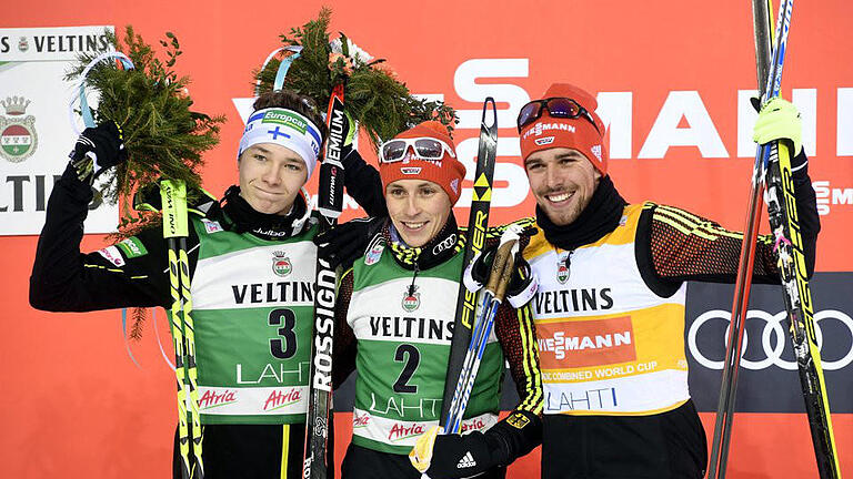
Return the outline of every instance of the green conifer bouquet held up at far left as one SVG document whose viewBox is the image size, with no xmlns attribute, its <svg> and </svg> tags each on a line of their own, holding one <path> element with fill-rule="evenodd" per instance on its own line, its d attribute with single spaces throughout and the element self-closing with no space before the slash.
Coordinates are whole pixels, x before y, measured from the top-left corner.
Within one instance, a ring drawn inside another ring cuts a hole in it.
<svg viewBox="0 0 853 479">
<path fill-rule="evenodd" d="M 133 62 L 133 70 L 117 68 L 114 62 L 94 65 L 87 79 L 87 91 L 100 96 L 93 112 L 97 123 L 113 120 L 124 132 L 128 161 L 107 172 L 108 185 L 103 191 L 107 202 L 130 197 L 142 185 L 160 179 L 182 180 L 188 191 L 201 187 L 199 172 L 202 154 L 219 143 L 220 125 L 224 115 L 210 116 L 191 110 L 192 99 L 187 93 L 189 77 L 179 77 L 173 70 L 182 54 L 178 38 L 165 33 L 158 52 L 128 26 L 119 41 L 112 32 L 108 38 L 118 51 Z M 66 79 L 79 81 L 79 75 L 97 57 L 82 54 L 67 73 Z M 163 57 L 161 60 L 159 57 Z M 132 221 L 136 220 L 136 221 Z M 139 226 L 149 221 L 133 218 L 124 208 L 121 226 Z"/>
</svg>

